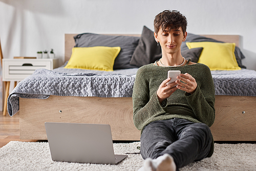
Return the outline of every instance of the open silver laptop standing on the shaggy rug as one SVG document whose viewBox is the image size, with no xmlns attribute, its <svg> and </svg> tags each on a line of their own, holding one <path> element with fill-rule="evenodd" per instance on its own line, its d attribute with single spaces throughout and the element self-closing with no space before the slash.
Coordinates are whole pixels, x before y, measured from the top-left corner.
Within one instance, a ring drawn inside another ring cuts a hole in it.
<svg viewBox="0 0 256 171">
<path fill-rule="evenodd" d="M 45 122 L 53 161 L 117 164 L 127 155 L 115 155 L 110 125 Z"/>
</svg>

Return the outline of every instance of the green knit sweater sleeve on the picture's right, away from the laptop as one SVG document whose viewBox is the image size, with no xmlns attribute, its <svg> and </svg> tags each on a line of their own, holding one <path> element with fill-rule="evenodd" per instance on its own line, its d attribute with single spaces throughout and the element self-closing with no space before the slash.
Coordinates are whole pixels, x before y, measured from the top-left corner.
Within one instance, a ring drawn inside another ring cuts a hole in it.
<svg viewBox="0 0 256 171">
<path fill-rule="evenodd" d="M 197 80 L 200 83 L 198 83 L 196 91 L 193 94 L 185 93 L 185 96 L 197 120 L 210 127 L 215 120 L 214 81 L 208 67 L 202 73 L 205 74 L 201 77 L 201 80 Z"/>
</svg>

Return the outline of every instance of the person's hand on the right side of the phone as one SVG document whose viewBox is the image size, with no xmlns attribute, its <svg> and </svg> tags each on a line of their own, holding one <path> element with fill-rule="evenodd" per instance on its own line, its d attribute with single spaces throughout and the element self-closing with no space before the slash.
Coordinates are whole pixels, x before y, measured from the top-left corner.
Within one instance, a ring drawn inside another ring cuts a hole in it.
<svg viewBox="0 0 256 171">
<path fill-rule="evenodd" d="M 189 94 L 193 94 L 196 91 L 197 88 L 197 82 L 196 79 L 191 76 L 188 73 L 180 74 L 180 76 L 177 77 L 179 80 L 175 81 L 178 86 L 176 86 L 178 89 L 183 90 Z M 183 82 L 181 82 L 183 81 Z"/>
</svg>

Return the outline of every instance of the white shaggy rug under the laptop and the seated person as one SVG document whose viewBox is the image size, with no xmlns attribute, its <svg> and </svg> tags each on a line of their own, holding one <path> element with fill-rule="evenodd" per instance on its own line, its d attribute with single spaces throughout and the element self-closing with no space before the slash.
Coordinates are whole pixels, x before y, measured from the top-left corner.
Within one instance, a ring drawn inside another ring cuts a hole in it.
<svg viewBox="0 0 256 171">
<path fill-rule="evenodd" d="M 138 170 L 144 160 L 140 142 L 114 143 L 115 154 L 128 157 L 117 165 L 55 162 L 48 142 L 11 141 L 0 148 L 0 170 Z M 212 157 L 194 162 L 184 170 L 256 170 L 256 144 L 215 144 Z"/>
</svg>

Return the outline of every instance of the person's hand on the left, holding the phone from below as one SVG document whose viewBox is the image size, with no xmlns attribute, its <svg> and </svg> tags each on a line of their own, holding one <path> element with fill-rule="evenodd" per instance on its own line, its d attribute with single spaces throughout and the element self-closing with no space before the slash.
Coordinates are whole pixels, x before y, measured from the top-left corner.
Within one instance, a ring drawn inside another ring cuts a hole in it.
<svg viewBox="0 0 256 171">
<path fill-rule="evenodd" d="M 177 87 L 174 87 L 177 83 L 173 82 L 167 85 L 167 82 L 170 81 L 170 78 L 165 79 L 159 86 L 157 90 L 157 96 L 160 103 L 163 102 L 164 99 L 168 98 L 172 95 L 176 90 Z"/>
</svg>

